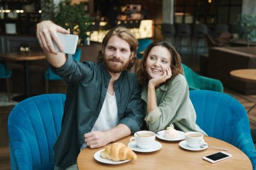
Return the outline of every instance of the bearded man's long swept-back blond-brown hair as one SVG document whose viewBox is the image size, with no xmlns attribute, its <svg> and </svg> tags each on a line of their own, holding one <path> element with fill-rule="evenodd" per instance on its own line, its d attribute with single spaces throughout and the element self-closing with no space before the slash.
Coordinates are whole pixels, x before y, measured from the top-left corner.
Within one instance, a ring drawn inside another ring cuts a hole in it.
<svg viewBox="0 0 256 170">
<path fill-rule="evenodd" d="M 125 40 L 129 44 L 131 52 L 134 53 L 133 58 L 131 58 L 129 65 L 126 68 L 126 69 L 130 69 L 131 67 L 133 67 L 133 65 L 136 62 L 136 57 L 137 57 L 136 52 L 137 52 L 138 42 L 137 42 L 137 38 L 135 38 L 135 36 L 127 28 L 124 28 L 124 27 L 112 28 L 111 30 L 108 31 L 106 36 L 104 36 L 102 40 L 102 50 L 98 52 L 98 62 L 103 61 L 106 45 L 108 44 L 108 40 L 112 36 L 118 36 L 119 38 Z"/>
</svg>

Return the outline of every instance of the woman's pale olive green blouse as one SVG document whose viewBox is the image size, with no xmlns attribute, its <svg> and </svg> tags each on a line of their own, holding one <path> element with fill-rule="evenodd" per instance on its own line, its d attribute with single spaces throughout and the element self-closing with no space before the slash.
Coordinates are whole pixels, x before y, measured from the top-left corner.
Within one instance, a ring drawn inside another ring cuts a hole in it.
<svg viewBox="0 0 256 170">
<path fill-rule="evenodd" d="M 145 114 L 147 112 L 148 87 L 143 87 L 141 99 Z M 189 99 L 189 87 L 183 75 L 177 75 L 169 83 L 156 89 L 156 102 L 158 107 L 146 114 L 146 124 L 153 132 L 164 130 L 170 124 L 183 132 L 197 131 L 205 134 L 195 124 L 196 114 Z"/>
</svg>

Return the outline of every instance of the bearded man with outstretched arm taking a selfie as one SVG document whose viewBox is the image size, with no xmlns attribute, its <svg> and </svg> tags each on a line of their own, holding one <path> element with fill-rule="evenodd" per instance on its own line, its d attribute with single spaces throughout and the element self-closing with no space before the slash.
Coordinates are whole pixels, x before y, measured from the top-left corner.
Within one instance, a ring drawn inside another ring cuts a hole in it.
<svg viewBox="0 0 256 170">
<path fill-rule="evenodd" d="M 143 124 L 140 88 L 133 66 L 137 40 L 129 30 L 117 27 L 103 39 L 98 63 L 77 62 L 56 52 L 63 47 L 57 32 L 69 31 L 51 21 L 37 25 L 37 37 L 53 71 L 67 83 L 61 134 L 54 146 L 55 169 L 77 169 L 79 152 L 99 148 L 137 132 Z"/>
</svg>

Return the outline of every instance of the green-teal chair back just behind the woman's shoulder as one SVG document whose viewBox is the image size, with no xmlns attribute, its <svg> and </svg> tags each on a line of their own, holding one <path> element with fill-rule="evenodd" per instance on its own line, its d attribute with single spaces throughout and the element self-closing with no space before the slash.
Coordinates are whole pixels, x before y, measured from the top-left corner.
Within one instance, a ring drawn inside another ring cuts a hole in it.
<svg viewBox="0 0 256 170">
<path fill-rule="evenodd" d="M 203 77 L 201 75 L 197 75 L 193 70 L 191 70 L 186 65 L 183 66 L 183 75 L 185 76 L 187 83 L 189 85 L 189 90 L 212 90 L 219 91 L 223 93 L 223 85 L 222 82 L 218 79 L 212 79 L 209 77 Z"/>
</svg>

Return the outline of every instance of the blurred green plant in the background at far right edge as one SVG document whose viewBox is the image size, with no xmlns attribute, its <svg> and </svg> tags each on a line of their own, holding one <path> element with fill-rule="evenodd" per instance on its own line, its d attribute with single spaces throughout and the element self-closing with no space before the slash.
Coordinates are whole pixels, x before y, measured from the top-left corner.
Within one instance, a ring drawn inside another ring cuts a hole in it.
<svg viewBox="0 0 256 170">
<path fill-rule="evenodd" d="M 250 46 L 250 41 L 256 40 L 256 15 L 238 15 L 236 26 L 239 36 L 247 40 L 247 46 Z"/>
</svg>

